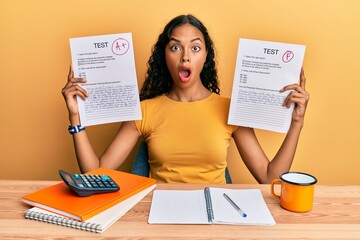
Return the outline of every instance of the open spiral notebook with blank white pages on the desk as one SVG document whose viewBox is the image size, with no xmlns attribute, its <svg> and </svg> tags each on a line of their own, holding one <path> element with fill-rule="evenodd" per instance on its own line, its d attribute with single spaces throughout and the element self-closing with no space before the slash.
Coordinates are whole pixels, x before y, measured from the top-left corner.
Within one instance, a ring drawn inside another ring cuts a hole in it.
<svg viewBox="0 0 360 240">
<path fill-rule="evenodd" d="M 237 211 L 228 195 L 246 213 Z M 259 189 L 155 190 L 150 224 L 275 225 Z"/>
</svg>

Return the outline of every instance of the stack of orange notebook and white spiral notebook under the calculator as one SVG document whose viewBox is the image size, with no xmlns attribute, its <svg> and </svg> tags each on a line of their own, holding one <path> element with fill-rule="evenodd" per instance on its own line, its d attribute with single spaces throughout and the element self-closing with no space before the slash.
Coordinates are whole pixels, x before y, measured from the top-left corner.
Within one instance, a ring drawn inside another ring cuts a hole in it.
<svg viewBox="0 0 360 240">
<path fill-rule="evenodd" d="M 152 178 L 106 168 L 88 174 L 108 175 L 120 190 L 79 197 L 61 182 L 23 196 L 32 206 L 25 218 L 102 233 L 156 187 Z"/>
</svg>

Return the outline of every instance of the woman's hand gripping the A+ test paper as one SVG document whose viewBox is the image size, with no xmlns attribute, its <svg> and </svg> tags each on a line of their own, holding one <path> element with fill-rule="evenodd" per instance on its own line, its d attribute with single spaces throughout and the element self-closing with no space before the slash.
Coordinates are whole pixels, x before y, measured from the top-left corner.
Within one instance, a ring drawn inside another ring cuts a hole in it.
<svg viewBox="0 0 360 240">
<path fill-rule="evenodd" d="M 74 70 L 72 66 L 70 66 L 69 74 L 68 74 L 68 81 L 65 87 L 62 89 L 61 93 L 65 99 L 66 107 L 69 111 L 69 118 L 72 124 L 79 124 L 74 123 L 73 119 L 76 118 L 76 122 L 79 120 L 79 108 L 76 96 L 81 97 L 82 99 L 86 99 L 88 97 L 87 92 L 85 89 L 80 87 L 78 83 L 86 83 L 86 79 L 84 78 L 74 78 Z"/>
</svg>

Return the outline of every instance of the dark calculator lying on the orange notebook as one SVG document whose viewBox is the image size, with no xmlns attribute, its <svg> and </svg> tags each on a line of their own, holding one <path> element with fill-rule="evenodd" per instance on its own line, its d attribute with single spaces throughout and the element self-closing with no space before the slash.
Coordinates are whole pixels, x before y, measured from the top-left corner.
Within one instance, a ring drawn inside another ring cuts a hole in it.
<svg viewBox="0 0 360 240">
<path fill-rule="evenodd" d="M 77 195 L 90 196 L 95 193 L 116 192 L 119 185 L 108 175 L 69 174 L 59 170 L 61 178 Z"/>
</svg>

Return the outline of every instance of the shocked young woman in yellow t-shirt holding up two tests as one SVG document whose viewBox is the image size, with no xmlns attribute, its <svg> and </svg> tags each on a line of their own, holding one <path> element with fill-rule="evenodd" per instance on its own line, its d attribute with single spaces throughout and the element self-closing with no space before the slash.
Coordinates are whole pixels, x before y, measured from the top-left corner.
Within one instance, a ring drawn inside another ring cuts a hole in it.
<svg viewBox="0 0 360 240">
<path fill-rule="evenodd" d="M 292 164 L 309 94 L 305 75 L 284 101 L 295 104 L 290 129 L 276 156 L 264 154 L 252 128 L 230 126 L 230 99 L 219 95 L 213 43 L 205 26 L 192 15 L 172 19 L 160 34 L 148 62 L 140 91 L 142 120 L 123 122 L 99 158 L 86 131 L 73 134 L 82 172 L 116 169 L 142 136 L 149 151 L 150 176 L 160 182 L 225 183 L 226 155 L 231 138 L 259 183 L 269 183 Z M 70 68 L 62 90 L 71 126 L 80 125 L 76 96 L 88 97 Z M 236 173 L 232 173 L 236 174 Z"/>
</svg>

